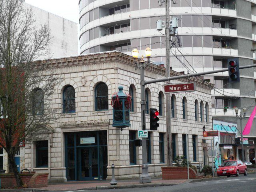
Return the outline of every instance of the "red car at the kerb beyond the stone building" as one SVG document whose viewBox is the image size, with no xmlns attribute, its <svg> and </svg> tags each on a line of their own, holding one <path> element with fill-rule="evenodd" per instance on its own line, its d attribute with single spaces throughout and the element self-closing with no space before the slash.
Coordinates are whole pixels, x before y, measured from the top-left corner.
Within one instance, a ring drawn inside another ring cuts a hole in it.
<svg viewBox="0 0 256 192">
<path fill-rule="evenodd" d="M 247 175 L 247 167 L 246 165 L 240 160 L 230 160 L 224 161 L 221 166 L 219 166 L 217 170 L 218 176 L 227 176 L 230 175 L 239 176 L 239 174 Z"/>
</svg>

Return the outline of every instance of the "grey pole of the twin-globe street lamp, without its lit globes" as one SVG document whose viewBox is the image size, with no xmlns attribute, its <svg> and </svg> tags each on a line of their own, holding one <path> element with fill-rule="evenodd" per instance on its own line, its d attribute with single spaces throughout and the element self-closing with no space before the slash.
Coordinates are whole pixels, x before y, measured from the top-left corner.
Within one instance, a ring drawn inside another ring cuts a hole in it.
<svg viewBox="0 0 256 192">
<path fill-rule="evenodd" d="M 145 101 L 145 68 L 149 63 L 149 58 L 145 62 L 142 60 L 137 64 L 140 68 L 140 97 L 141 97 L 141 126 L 143 130 L 146 130 L 145 126 L 145 110 L 146 110 L 146 101 Z M 151 177 L 148 174 L 148 160 L 147 160 L 147 140 L 142 138 L 142 174 L 140 175 L 140 183 L 151 183 Z"/>
</svg>

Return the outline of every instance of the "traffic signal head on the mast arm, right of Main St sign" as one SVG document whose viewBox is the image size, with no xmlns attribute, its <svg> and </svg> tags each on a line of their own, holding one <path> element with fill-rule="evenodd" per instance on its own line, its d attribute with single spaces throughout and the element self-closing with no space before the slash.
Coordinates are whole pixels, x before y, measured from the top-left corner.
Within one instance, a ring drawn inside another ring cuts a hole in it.
<svg viewBox="0 0 256 192">
<path fill-rule="evenodd" d="M 228 59 L 228 76 L 230 83 L 240 81 L 238 58 Z"/>
</svg>

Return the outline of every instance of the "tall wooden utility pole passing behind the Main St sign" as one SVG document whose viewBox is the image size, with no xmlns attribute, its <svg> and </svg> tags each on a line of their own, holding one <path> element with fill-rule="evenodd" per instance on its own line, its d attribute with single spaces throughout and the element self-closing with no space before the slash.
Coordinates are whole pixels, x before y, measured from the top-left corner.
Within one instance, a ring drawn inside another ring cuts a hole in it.
<svg viewBox="0 0 256 192">
<path fill-rule="evenodd" d="M 166 77 L 170 77 L 170 1 L 165 0 L 165 36 L 166 36 L 166 53 L 165 53 L 165 66 L 166 66 Z M 170 81 L 166 81 L 167 84 Z M 171 94 L 166 94 L 166 133 L 167 133 L 167 166 L 172 166 L 172 129 L 171 129 L 171 104 L 170 104 Z"/>
</svg>

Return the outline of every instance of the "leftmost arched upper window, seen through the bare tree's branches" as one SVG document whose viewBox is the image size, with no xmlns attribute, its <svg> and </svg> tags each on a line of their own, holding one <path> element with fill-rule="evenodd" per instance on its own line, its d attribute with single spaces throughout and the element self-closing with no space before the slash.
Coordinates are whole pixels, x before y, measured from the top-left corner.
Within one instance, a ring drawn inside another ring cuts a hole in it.
<svg viewBox="0 0 256 192">
<path fill-rule="evenodd" d="M 40 88 L 36 88 L 32 92 L 32 114 L 42 115 L 44 114 L 44 92 Z"/>
</svg>

